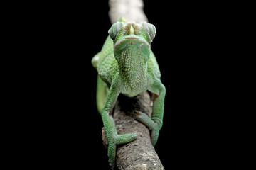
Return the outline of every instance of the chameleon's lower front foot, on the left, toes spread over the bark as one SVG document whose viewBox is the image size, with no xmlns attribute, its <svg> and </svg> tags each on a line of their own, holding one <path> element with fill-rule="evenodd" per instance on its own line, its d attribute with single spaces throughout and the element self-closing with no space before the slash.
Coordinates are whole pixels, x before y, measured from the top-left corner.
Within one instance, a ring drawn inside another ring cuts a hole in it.
<svg viewBox="0 0 256 170">
<path fill-rule="evenodd" d="M 137 135 L 135 133 L 128 133 L 124 135 L 113 135 L 109 140 L 109 146 L 107 155 L 109 157 L 110 166 L 114 169 L 115 166 L 115 156 L 116 156 L 116 147 L 119 144 L 125 144 L 136 140 Z"/>
</svg>

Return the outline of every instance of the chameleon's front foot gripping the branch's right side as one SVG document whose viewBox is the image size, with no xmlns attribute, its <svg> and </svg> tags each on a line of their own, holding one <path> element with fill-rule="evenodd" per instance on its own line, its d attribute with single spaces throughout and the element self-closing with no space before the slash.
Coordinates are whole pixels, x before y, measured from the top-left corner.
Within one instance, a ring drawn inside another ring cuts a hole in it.
<svg viewBox="0 0 256 170">
<path fill-rule="evenodd" d="M 161 126 L 163 124 L 161 120 L 157 117 L 149 118 L 148 115 L 142 113 L 141 111 L 137 111 L 135 118 L 151 129 L 151 143 L 153 146 L 156 145 L 159 137 L 159 131 L 161 130 Z"/>
</svg>

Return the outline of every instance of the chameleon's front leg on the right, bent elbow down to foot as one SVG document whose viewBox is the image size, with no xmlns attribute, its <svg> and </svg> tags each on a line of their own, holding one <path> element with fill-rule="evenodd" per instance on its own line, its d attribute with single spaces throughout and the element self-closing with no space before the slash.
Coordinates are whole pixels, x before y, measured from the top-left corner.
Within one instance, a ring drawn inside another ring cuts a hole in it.
<svg viewBox="0 0 256 170">
<path fill-rule="evenodd" d="M 156 145 L 159 137 L 159 131 L 163 125 L 164 97 L 166 94 L 166 89 L 164 84 L 162 84 L 160 80 L 157 80 L 149 87 L 149 91 L 156 94 L 153 100 L 153 111 L 151 118 L 141 111 L 137 111 L 135 118 L 151 129 L 151 143 L 154 146 Z"/>
</svg>

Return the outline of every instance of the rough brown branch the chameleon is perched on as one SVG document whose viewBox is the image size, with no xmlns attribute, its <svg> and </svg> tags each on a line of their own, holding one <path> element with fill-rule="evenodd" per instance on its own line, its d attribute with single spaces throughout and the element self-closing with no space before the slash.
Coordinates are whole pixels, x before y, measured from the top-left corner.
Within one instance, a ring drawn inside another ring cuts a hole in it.
<svg viewBox="0 0 256 170">
<path fill-rule="evenodd" d="M 142 0 L 110 0 L 110 21 L 115 23 L 120 17 L 127 22 L 147 21 L 143 12 Z M 136 111 L 142 111 L 151 117 L 152 107 L 149 93 L 145 91 L 134 98 L 119 95 L 114 106 L 113 118 L 119 135 L 134 132 L 137 140 L 126 145 L 117 145 L 116 163 L 120 170 L 132 169 L 164 169 L 161 161 L 151 145 L 149 128 L 133 118 Z M 107 147 L 105 130 L 102 128 L 102 140 Z"/>
</svg>

